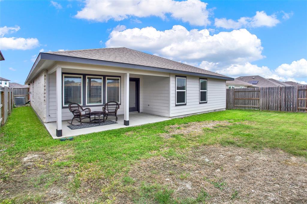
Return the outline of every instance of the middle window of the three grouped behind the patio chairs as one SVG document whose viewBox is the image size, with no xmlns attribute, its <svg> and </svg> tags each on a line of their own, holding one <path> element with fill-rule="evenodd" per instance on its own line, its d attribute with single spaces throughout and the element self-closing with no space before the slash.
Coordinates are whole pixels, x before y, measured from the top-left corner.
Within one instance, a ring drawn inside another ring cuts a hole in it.
<svg viewBox="0 0 307 204">
<path fill-rule="evenodd" d="M 102 104 L 102 77 L 86 77 L 86 104 Z"/>
</svg>

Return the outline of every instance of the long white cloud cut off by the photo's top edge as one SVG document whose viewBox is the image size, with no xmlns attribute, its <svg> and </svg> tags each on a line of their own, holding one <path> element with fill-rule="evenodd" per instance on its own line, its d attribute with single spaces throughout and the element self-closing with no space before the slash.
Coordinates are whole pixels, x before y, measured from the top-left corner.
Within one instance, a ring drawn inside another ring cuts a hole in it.
<svg viewBox="0 0 307 204">
<path fill-rule="evenodd" d="M 75 17 L 107 22 L 110 19 L 122 21 L 128 17 L 157 16 L 165 19 L 166 14 L 170 14 L 171 17 L 191 25 L 206 26 L 210 24 L 209 11 L 206 7 L 207 3 L 200 0 L 87 0 L 85 7 L 78 11 Z"/>
</svg>

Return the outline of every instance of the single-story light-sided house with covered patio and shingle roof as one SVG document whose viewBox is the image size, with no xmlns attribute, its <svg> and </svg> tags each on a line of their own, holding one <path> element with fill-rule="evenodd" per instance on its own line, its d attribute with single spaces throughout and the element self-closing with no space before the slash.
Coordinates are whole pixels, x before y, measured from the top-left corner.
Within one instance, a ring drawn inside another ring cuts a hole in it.
<svg viewBox="0 0 307 204">
<path fill-rule="evenodd" d="M 234 79 L 119 47 L 40 53 L 25 84 L 31 106 L 55 138 L 106 130 L 66 128 L 70 102 L 102 111 L 106 102 L 117 101 L 118 128 L 225 110 L 227 80 Z"/>
</svg>

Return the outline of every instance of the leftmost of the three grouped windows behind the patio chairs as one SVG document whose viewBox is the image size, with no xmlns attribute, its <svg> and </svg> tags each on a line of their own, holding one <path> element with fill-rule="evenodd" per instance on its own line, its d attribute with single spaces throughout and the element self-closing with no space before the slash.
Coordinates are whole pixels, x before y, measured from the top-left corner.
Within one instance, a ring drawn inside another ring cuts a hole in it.
<svg viewBox="0 0 307 204">
<path fill-rule="evenodd" d="M 82 105 L 82 76 L 63 75 L 63 105 L 70 103 Z"/>
</svg>

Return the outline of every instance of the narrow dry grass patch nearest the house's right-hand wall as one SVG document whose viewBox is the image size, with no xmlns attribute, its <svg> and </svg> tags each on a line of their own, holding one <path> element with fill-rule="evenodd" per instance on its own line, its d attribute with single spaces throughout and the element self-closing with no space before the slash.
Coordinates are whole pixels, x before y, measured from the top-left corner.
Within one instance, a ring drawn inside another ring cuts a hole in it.
<svg viewBox="0 0 307 204">
<path fill-rule="evenodd" d="M 208 120 L 208 121 L 202 121 L 202 122 L 191 122 L 187 124 L 180 124 L 180 125 L 171 125 L 167 126 L 166 130 L 167 133 L 160 134 L 162 137 L 169 139 L 172 137 L 172 135 L 175 134 L 201 134 L 204 130 L 204 128 L 213 129 L 216 127 L 225 127 L 233 124 L 251 124 L 249 121 L 244 122 L 236 122 L 236 123 L 230 123 L 226 120 L 222 121 L 216 121 L 216 120 Z"/>
</svg>

